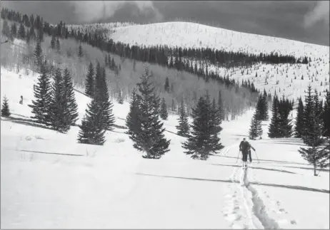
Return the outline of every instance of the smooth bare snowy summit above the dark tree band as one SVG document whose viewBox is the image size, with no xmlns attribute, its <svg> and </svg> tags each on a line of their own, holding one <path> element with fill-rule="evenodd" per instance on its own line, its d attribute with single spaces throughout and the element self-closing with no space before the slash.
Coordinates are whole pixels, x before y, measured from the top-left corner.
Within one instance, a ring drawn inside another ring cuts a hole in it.
<svg viewBox="0 0 330 230">
<path fill-rule="evenodd" d="M 300 56 L 329 55 L 329 46 L 319 46 L 284 38 L 241 33 L 191 22 L 164 22 L 114 28 L 114 41 L 130 45 L 167 45 L 187 48 L 215 48 L 246 53 L 271 53 Z"/>
</svg>

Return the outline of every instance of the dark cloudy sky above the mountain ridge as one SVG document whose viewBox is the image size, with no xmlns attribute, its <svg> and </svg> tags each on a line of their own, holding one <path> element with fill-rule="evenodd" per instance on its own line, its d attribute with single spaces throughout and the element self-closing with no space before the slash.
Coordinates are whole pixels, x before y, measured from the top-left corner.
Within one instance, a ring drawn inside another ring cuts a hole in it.
<svg viewBox="0 0 330 230">
<path fill-rule="evenodd" d="M 1 1 L 50 23 L 195 21 L 329 46 L 329 1 Z"/>
</svg>

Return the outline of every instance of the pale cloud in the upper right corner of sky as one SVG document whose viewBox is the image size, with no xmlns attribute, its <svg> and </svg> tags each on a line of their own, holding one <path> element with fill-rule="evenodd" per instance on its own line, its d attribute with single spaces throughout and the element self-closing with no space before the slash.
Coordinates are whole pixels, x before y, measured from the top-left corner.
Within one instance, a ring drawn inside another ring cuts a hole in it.
<svg viewBox="0 0 330 230">
<path fill-rule="evenodd" d="M 317 21 L 324 21 L 329 26 L 329 0 L 317 1 L 316 6 L 312 11 L 309 11 L 304 16 L 304 26 L 309 28 L 313 26 Z"/>
</svg>

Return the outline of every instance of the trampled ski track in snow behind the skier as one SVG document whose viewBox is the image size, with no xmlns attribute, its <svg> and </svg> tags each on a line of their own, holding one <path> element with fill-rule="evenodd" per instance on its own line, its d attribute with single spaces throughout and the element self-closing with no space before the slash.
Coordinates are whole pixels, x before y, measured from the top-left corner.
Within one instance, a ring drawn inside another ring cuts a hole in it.
<svg viewBox="0 0 330 230">
<path fill-rule="evenodd" d="M 280 224 L 285 226 L 287 226 L 286 224 L 296 224 L 295 220 L 289 221 L 284 218 L 287 211 L 281 208 L 279 201 L 271 199 L 266 192 L 251 186 L 249 175 L 254 181 L 253 169 L 234 167 L 229 177 L 232 183 L 228 185 L 228 190 L 224 196 L 227 199 L 224 216 L 227 221 L 231 222 L 231 228 L 281 229 Z M 271 204 L 270 207 L 266 207 L 266 202 Z M 272 216 L 270 216 L 269 211 L 272 212 Z"/>
</svg>

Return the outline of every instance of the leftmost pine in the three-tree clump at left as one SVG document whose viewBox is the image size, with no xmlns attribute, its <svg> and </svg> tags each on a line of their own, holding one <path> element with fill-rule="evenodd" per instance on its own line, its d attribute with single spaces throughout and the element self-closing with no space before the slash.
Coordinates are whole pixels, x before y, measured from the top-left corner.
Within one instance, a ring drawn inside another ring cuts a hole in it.
<svg viewBox="0 0 330 230">
<path fill-rule="evenodd" d="M 49 108 L 50 108 L 50 93 L 51 85 L 49 82 L 49 76 L 46 75 L 46 69 L 44 64 L 41 66 L 41 75 L 38 78 L 38 83 L 34 87 L 34 98 L 32 100 L 32 108 L 34 116 L 31 118 L 36 119 L 36 122 L 49 125 Z"/>
</svg>

